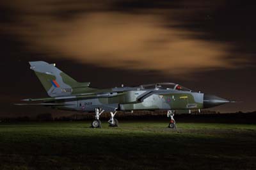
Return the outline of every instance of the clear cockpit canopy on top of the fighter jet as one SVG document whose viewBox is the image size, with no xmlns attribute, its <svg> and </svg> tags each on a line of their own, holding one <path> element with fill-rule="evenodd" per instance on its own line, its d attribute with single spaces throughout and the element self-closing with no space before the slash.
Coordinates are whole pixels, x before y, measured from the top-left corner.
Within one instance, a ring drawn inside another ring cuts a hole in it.
<svg viewBox="0 0 256 170">
<path fill-rule="evenodd" d="M 156 84 L 142 84 L 141 89 L 176 89 L 180 91 L 192 91 L 191 89 L 180 86 L 179 84 L 173 82 L 159 82 Z"/>
</svg>

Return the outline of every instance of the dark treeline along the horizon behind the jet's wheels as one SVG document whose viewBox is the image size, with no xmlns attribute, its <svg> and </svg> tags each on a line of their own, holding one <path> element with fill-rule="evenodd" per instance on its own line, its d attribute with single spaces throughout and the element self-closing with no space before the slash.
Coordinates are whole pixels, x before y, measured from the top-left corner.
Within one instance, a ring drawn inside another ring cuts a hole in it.
<svg viewBox="0 0 256 170">
<path fill-rule="evenodd" d="M 100 120 L 108 120 L 108 112 L 100 116 Z M 18 118 L 0 118 L 1 122 L 26 122 L 26 121 L 88 121 L 93 120 L 93 113 L 76 113 L 68 116 L 52 117 L 51 113 L 38 114 L 35 118 L 28 116 Z M 115 116 L 118 120 L 133 121 L 166 121 L 166 111 L 137 111 L 118 112 Z M 255 112 L 220 113 L 215 111 L 192 112 L 191 114 L 175 114 L 177 122 L 202 122 L 202 123 L 256 123 Z"/>
</svg>

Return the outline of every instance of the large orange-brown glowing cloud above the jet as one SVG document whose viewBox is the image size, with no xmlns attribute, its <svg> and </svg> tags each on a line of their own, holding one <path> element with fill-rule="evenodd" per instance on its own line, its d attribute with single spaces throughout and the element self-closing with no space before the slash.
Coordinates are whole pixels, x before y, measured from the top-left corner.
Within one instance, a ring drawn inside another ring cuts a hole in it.
<svg viewBox="0 0 256 170">
<path fill-rule="evenodd" d="M 198 40 L 191 31 L 166 27 L 167 20 L 161 15 L 100 11 L 80 13 L 67 21 L 52 15 L 36 15 L 36 10 L 29 10 L 35 15 L 22 15 L 22 26 L 12 30 L 29 49 L 50 56 L 98 66 L 171 74 L 232 66 L 225 59 L 228 45 Z M 40 6 L 43 12 L 55 10 L 54 5 Z"/>
</svg>

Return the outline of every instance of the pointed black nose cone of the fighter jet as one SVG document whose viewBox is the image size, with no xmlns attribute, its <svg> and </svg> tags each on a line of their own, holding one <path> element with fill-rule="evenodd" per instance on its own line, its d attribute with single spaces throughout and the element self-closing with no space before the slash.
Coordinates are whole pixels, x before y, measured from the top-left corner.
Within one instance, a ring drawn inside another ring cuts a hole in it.
<svg viewBox="0 0 256 170">
<path fill-rule="evenodd" d="M 221 104 L 229 103 L 230 101 L 225 98 L 216 97 L 214 95 L 204 94 L 204 108 L 214 107 Z"/>
</svg>

